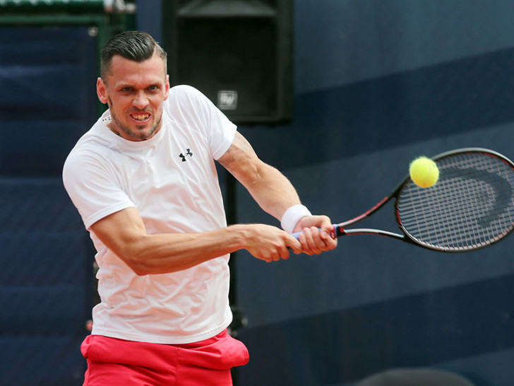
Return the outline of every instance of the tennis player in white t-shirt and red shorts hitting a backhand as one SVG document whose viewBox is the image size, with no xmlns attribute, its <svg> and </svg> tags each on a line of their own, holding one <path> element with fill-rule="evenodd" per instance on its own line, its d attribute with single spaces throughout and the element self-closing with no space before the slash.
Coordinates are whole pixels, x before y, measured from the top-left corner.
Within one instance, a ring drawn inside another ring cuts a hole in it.
<svg viewBox="0 0 514 386">
<path fill-rule="evenodd" d="M 332 250 L 330 218 L 312 216 L 208 98 L 170 88 L 150 35 L 107 42 L 97 95 L 109 108 L 63 171 L 99 267 L 84 385 L 232 385 L 230 368 L 249 353 L 227 334 L 230 252 L 272 262 Z M 227 226 L 215 160 L 283 230 Z"/>
</svg>

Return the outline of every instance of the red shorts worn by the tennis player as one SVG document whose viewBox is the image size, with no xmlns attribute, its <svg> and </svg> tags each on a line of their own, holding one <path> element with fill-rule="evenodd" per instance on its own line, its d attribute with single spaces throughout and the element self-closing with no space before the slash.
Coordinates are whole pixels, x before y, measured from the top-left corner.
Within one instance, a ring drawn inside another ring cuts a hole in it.
<svg viewBox="0 0 514 386">
<path fill-rule="evenodd" d="M 88 360 L 83 386 L 231 386 L 230 369 L 249 353 L 227 334 L 191 344 L 152 344 L 89 335 L 80 350 Z"/>
</svg>

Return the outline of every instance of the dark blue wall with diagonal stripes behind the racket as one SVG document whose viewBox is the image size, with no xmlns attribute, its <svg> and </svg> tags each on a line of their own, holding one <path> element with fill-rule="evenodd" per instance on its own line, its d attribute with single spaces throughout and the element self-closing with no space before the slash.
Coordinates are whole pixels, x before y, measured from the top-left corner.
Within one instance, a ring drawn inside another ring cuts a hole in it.
<svg viewBox="0 0 514 386">
<path fill-rule="evenodd" d="M 514 158 L 513 19 L 511 1 L 297 0 L 294 122 L 240 130 L 334 221 L 375 204 L 416 156 Z M 277 225 L 244 189 L 237 199 L 240 222 Z M 368 225 L 394 229 L 392 211 Z M 355 236 L 273 264 L 239 252 L 240 384 L 346 386 L 431 366 L 512 385 L 513 243 L 444 255 Z"/>
</svg>

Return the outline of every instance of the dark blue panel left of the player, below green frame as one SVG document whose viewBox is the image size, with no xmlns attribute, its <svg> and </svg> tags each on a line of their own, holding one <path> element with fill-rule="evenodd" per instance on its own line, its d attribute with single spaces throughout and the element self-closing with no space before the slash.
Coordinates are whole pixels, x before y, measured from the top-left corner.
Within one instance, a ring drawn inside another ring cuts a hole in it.
<svg viewBox="0 0 514 386">
<path fill-rule="evenodd" d="M 0 25 L 0 385 L 81 385 L 92 245 L 61 170 L 97 119 L 97 37 Z"/>
</svg>

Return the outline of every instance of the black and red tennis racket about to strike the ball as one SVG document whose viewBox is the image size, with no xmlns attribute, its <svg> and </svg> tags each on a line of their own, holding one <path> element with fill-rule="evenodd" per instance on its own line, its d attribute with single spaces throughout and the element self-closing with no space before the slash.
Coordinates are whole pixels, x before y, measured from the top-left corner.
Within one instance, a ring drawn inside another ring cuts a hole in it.
<svg viewBox="0 0 514 386">
<path fill-rule="evenodd" d="M 502 240 L 514 228 L 514 164 L 484 148 L 462 148 L 432 158 L 436 185 L 419 187 L 409 176 L 369 211 L 334 224 L 337 237 L 381 235 L 441 252 L 467 252 Z M 347 229 L 395 200 L 402 233 Z M 295 233 L 298 236 L 299 233 Z"/>
</svg>

